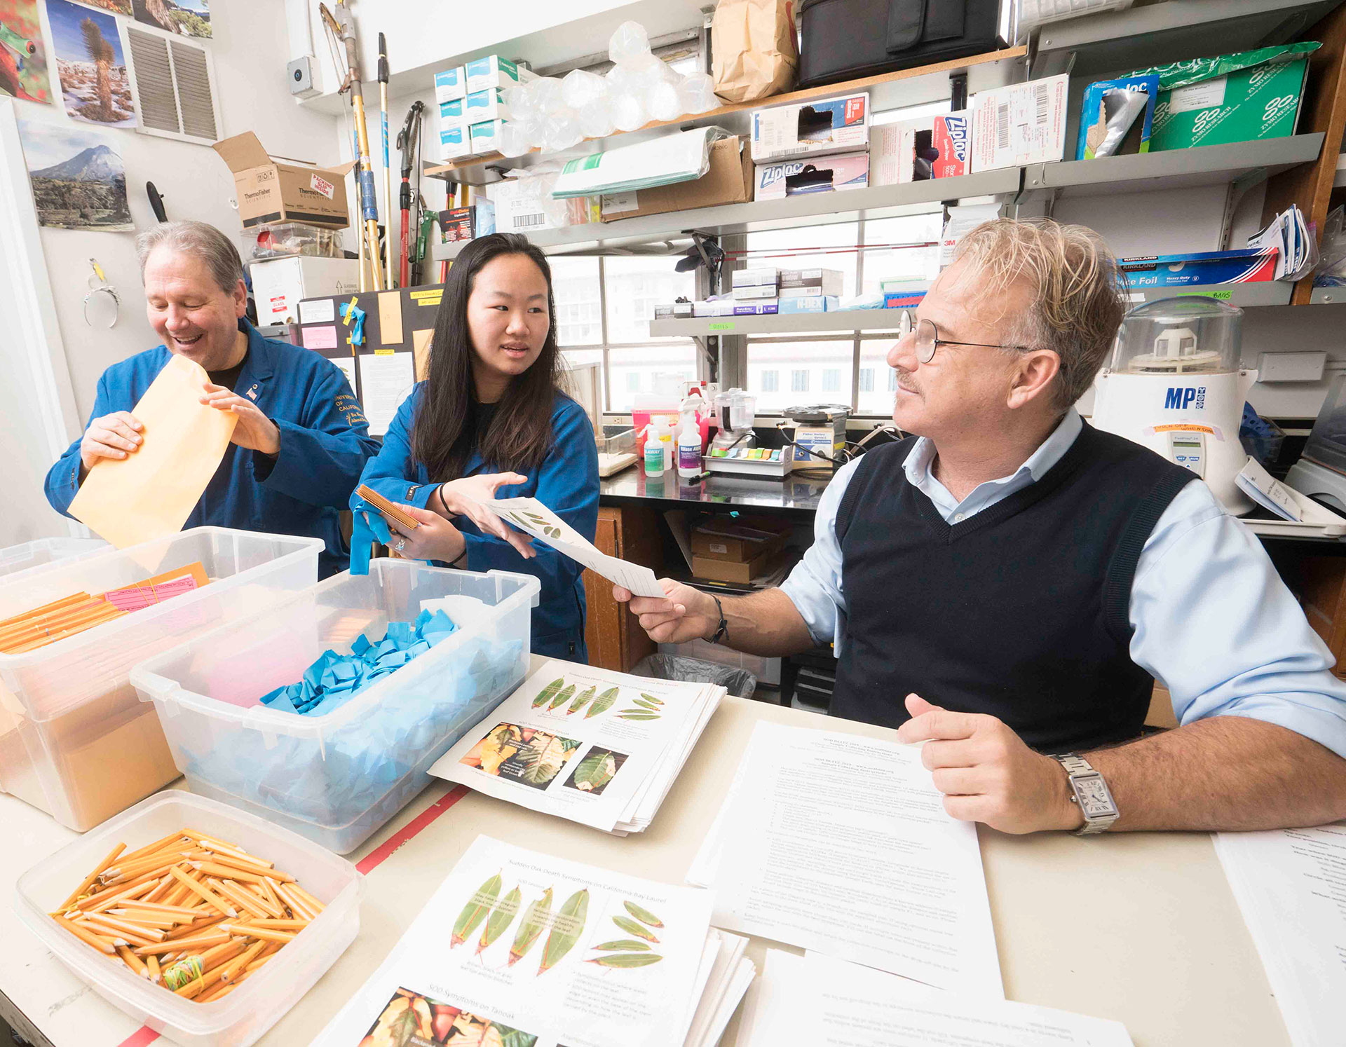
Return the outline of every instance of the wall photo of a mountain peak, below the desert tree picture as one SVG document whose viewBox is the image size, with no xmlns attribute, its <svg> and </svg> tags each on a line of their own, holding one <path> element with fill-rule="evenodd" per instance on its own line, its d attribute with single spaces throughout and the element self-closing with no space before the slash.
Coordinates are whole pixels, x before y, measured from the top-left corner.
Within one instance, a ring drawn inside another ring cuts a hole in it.
<svg viewBox="0 0 1346 1047">
<path fill-rule="evenodd" d="M 63 124 L 19 121 L 38 223 L 55 229 L 135 229 L 127 168 L 106 135 Z"/>
</svg>

